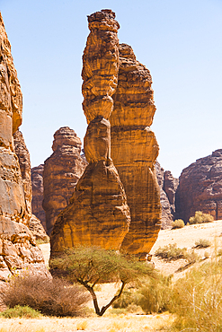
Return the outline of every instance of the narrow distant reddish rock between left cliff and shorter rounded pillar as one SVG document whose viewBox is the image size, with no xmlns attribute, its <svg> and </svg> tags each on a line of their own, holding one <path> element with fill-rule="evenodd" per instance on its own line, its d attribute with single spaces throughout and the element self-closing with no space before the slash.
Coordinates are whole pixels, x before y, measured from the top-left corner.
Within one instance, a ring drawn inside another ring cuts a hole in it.
<svg viewBox="0 0 222 332">
<path fill-rule="evenodd" d="M 46 227 L 46 213 L 42 207 L 43 201 L 43 170 L 44 165 L 31 168 L 31 185 L 32 185 L 32 200 L 31 200 L 31 211 L 40 220 L 40 223 L 47 231 Z"/>
</svg>

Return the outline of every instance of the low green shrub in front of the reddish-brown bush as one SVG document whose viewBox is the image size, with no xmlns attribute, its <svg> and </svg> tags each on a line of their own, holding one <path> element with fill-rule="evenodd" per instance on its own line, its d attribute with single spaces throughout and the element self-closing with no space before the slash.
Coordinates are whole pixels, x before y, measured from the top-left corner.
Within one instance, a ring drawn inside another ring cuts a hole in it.
<svg viewBox="0 0 222 332">
<path fill-rule="evenodd" d="M 34 310 L 29 306 L 20 306 L 16 305 L 13 308 L 4 310 L 0 313 L 0 317 L 4 317 L 5 319 L 13 319 L 15 317 L 25 318 L 25 319 L 36 319 L 41 315 L 39 310 Z"/>
</svg>

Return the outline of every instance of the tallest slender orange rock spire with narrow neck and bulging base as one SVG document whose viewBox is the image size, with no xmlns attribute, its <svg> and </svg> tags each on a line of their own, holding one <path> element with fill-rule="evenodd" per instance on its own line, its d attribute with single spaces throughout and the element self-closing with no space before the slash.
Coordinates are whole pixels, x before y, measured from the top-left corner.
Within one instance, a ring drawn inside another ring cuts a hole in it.
<svg viewBox="0 0 222 332">
<path fill-rule="evenodd" d="M 89 165 L 51 235 L 51 256 L 76 244 L 120 249 L 129 230 L 129 206 L 111 161 L 112 95 L 119 70 L 119 23 L 102 10 L 88 16 L 91 31 L 84 48 L 82 76 L 87 118 L 84 153 Z"/>
</svg>

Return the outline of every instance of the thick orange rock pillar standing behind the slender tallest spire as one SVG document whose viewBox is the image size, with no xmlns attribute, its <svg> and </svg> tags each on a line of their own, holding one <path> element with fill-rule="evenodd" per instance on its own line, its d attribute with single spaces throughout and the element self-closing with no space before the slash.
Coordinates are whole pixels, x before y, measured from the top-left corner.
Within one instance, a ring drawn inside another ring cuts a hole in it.
<svg viewBox="0 0 222 332">
<path fill-rule="evenodd" d="M 131 214 L 121 249 L 145 258 L 161 227 L 155 175 L 159 146 L 150 130 L 155 114 L 152 77 L 127 44 L 120 44 L 118 87 L 111 113 L 111 158 L 126 190 Z"/>
</svg>

